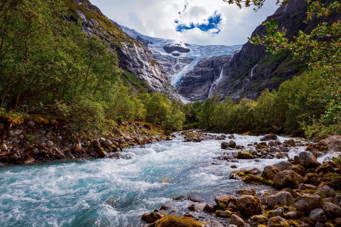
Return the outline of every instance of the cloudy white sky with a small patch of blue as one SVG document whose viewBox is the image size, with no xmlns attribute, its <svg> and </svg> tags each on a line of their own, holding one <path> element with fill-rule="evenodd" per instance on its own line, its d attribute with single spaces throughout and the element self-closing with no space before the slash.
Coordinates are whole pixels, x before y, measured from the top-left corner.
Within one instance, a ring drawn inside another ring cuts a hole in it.
<svg viewBox="0 0 341 227">
<path fill-rule="evenodd" d="M 223 0 L 90 0 L 120 25 L 145 36 L 198 45 L 238 45 L 278 6 L 265 1 L 256 13 Z"/>
</svg>

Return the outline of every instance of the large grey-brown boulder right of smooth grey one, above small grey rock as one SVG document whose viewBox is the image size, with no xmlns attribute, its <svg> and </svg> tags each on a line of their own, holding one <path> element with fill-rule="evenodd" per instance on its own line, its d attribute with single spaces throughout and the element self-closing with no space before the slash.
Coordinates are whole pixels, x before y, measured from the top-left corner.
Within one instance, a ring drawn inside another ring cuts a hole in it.
<svg viewBox="0 0 341 227">
<path fill-rule="evenodd" d="M 323 209 L 323 200 L 318 195 L 305 194 L 295 198 L 293 207 L 298 211 L 310 213 L 316 208 Z"/>
</svg>

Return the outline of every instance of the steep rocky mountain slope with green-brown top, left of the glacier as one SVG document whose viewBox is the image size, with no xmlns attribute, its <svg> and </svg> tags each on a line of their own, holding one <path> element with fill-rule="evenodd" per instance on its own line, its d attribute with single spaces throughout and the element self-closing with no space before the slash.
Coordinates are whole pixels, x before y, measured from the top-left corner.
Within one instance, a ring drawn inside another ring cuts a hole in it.
<svg viewBox="0 0 341 227">
<path fill-rule="evenodd" d="M 146 81 L 152 90 L 166 93 L 170 99 L 179 99 L 165 70 L 147 47 L 128 36 L 117 23 L 109 20 L 97 6 L 92 5 L 88 0 L 63 1 L 71 13 L 65 19 L 76 23 L 81 21 L 84 32 L 89 36 L 94 34 L 110 43 L 110 47 L 117 52 L 120 68 Z M 124 78 L 127 79 L 127 76 Z"/>
</svg>

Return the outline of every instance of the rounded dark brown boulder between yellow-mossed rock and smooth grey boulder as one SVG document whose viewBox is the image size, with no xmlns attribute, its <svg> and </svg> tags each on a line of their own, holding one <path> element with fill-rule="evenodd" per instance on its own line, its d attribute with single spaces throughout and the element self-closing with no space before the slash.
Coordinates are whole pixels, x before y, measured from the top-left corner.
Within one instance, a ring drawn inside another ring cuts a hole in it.
<svg viewBox="0 0 341 227">
<path fill-rule="evenodd" d="M 262 214 L 262 203 L 257 196 L 242 195 L 237 198 L 237 209 L 243 215 Z"/>
</svg>

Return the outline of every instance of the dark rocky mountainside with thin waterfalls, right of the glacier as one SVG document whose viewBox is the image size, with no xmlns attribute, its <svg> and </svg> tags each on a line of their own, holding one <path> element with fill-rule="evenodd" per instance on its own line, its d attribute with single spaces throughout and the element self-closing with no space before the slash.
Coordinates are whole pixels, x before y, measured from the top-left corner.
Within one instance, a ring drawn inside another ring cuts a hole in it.
<svg viewBox="0 0 341 227">
<path fill-rule="evenodd" d="M 284 27 L 290 35 L 295 35 L 299 30 L 311 30 L 318 23 L 317 19 L 303 23 L 306 10 L 305 0 L 293 0 L 288 5 L 280 6 L 273 15 L 267 17 L 267 20 L 277 19 L 280 28 Z M 265 26 L 260 25 L 251 36 L 265 34 L 265 32 Z M 265 88 L 277 89 L 283 81 L 302 73 L 307 69 L 305 61 L 307 60 L 294 59 L 286 51 L 271 55 L 265 51 L 265 47 L 254 46 L 247 42 L 231 59 L 226 58 L 223 61 L 217 58 L 204 59 L 200 64 L 212 62 L 213 69 L 202 70 L 200 66 L 195 67 L 183 77 L 177 89 L 181 96 L 191 101 L 205 100 L 214 92 L 217 92 L 221 99 L 227 96 L 235 100 L 243 97 L 256 99 Z M 224 65 L 222 77 L 216 74 L 214 80 L 211 80 L 212 71 L 220 72 L 222 65 Z M 216 84 L 213 86 L 213 92 L 208 93 L 207 90 L 213 83 Z M 192 92 L 197 84 L 199 84 L 198 90 L 203 89 L 205 94 Z"/>
</svg>

